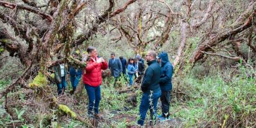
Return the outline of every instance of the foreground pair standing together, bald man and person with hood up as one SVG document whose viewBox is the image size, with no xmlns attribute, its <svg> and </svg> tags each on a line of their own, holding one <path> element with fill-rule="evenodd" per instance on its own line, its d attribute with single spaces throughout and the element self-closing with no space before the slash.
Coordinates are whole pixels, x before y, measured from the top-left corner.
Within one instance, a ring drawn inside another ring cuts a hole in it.
<svg viewBox="0 0 256 128">
<path fill-rule="evenodd" d="M 141 90 L 143 96 L 140 104 L 140 119 L 138 124 L 143 126 L 145 116 L 150 109 L 150 118 L 155 120 L 157 117 L 161 120 L 169 118 L 170 93 L 172 91 L 173 66 L 169 62 L 168 54 L 155 51 L 147 52 L 145 56 L 148 68 L 145 71 Z M 157 115 L 158 99 L 161 99 L 162 114 Z"/>
</svg>

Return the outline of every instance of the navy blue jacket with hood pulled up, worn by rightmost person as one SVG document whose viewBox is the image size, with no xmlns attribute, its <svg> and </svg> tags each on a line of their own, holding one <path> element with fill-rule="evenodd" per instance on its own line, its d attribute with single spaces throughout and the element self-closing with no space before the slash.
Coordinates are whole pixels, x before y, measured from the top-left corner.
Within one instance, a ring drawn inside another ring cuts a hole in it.
<svg viewBox="0 0 256 128">
<path fill-rule="evenodd" d="M 168 54 L 166 52 L 161 52 L 158 57 L 161 59 L 160 88 L 162 91 L 170 91 L 172 90 L 172 63 L 169 62 Z"/>
</svg>

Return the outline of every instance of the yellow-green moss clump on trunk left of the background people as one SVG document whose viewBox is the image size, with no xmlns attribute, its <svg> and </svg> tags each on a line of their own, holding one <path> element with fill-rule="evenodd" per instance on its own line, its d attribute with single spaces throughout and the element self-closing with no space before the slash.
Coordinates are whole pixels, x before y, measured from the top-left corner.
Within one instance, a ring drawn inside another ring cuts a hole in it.
<svg viewBox="0 0 256 128">
<path fill-rule="evenodd" d="M 47 77 L 41 72 L 34 78 L 34 80 L 29 84 L 29 87 L 45 87 L 47 85 Z"/>
</svg>

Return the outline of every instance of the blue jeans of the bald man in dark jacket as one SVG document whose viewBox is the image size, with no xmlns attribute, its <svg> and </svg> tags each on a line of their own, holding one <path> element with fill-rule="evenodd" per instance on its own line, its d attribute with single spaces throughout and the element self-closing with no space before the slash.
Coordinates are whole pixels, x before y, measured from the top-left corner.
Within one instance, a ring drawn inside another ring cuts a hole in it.
<svg viewBox="0 0 256 128">
<path fill-rule="evenodd" d="M 147 115 L 148 109 L 150 109 L 151 120 L 154 120 L 153 116 L 155 116 L 155 118 L 157 117 L 157 102 L 160 96 L 161 90 L 153 92 L 152 95 L 150 95 L 150 93 L 143 93 L 140 103 L 140 119 L 138 119 L 137 122 L 139 125 L 144 125 L 144 120 Z"/>
</svg>

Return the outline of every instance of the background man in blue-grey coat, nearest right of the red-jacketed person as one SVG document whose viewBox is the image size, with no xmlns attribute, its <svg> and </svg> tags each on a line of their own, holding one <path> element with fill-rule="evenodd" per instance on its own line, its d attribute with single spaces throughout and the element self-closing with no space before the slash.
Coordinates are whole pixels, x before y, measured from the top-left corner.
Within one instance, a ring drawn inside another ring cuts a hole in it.
<svg viewBox="0 0 256 128">
<path fill-rule="evenodd" d="M 119 58 L 116 58 L 115 53 L 112 52 L 111 59 L 108 61 L 108 68 L 111 70 L 112 76 L 115 78 L 114 87 L 116 81 L 120 77 L 120 74 L 123 72 L 122 63 Z"/>
</svg>

